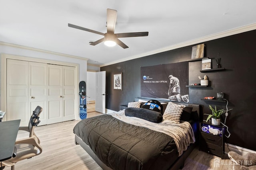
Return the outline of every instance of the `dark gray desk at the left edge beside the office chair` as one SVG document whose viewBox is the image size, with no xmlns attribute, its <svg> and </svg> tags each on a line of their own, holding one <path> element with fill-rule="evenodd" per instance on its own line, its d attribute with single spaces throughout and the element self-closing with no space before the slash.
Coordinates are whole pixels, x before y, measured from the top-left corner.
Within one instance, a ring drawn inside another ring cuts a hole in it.
<svg viewBox="0 0 256 170">
<path fill-rule="evenodd" d="M 0 161 L 12 158 L 20 120 L 0 122 Z"/>
</svg>

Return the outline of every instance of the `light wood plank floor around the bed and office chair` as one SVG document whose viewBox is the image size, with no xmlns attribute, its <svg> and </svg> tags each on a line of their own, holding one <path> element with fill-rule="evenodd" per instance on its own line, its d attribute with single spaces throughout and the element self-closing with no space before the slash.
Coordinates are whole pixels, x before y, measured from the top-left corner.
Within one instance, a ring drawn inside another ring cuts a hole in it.
<svg viewBox="0 0 256 170">
<path fill-rule="evenodd" d="M 88 117 L 101 114 L 94 111 L 88 113 Z M 80 145 L 74 143 L 73 127 L 79 121 L 36 127 L 35 133 L 41 140 L 43 152 L 33 158 L 17 162 L 15 170 L 102 170 Z M 24 134 L 19 134 L 18 138 L 22 136 Z M 221 160 L 196 148 L 186 159 L 182 170 L 232 170 L 232 165 L 228 164 L 230 160 Z"/>
</svg>

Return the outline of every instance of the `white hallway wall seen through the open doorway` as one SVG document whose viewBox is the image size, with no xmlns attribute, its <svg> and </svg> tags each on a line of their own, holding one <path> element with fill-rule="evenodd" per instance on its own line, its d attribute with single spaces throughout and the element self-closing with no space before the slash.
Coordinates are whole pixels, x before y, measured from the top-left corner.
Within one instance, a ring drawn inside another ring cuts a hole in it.
<svg viewBox="0 0 256 170">
<path fill-rule="evenodd" d="M 87 72 L 86 101 L 95 101 L 96 98 L 96 72 Z"/>
</svg>

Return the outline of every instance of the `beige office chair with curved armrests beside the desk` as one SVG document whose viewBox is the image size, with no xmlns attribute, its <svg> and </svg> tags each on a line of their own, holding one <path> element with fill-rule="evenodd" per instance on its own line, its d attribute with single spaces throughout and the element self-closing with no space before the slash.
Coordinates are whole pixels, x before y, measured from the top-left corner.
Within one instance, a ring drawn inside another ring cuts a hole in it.
<svg viewBox="0 0 256 170">
<path fill-rule="evenodd" d="M 42 147 L 40 145 L 40 140 L 34 133 L 35 126 L 40 123 L 39 115 L 42 112 L 42 107 L 37 106 L 30 117 L 28 127 L 20 127 L 19 130 L 28 131 L 29 137 L 24 139 L 18 139 L 15 142 L 15 147 L 17 148 L 16 156 L 5 160 L 2 162 L 2 166 L 11 166 L 11 170 L 14 170 L 14 165 L 16 162 L 33 156 L 37 156 L 42 153 Z"/>
</svg>

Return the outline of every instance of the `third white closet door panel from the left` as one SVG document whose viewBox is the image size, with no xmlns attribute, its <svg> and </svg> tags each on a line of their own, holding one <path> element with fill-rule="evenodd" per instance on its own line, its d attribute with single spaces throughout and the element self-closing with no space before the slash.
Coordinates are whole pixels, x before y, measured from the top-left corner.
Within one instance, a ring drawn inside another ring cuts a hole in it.
<svg viewBox="0 0 256 170">
<path fill-rule="evenodd" d="M 62 122 L 62 66 L 48 64 L 48 124 Z"/>
</svg>

